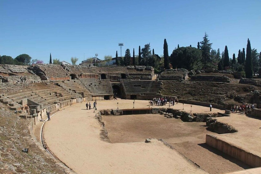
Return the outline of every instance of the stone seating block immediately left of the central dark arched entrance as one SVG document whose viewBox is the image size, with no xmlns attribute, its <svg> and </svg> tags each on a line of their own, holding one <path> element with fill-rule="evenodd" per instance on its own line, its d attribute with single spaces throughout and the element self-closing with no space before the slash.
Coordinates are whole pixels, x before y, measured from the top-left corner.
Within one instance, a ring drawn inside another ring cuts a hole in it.
<svg viewBox="0 0 261 174">
<path fill-rule="evenodd" d="M 91 92 L 91 95 L 113 95 L 109 79 L 79 78 L 79 80 Z"/>
</svg>

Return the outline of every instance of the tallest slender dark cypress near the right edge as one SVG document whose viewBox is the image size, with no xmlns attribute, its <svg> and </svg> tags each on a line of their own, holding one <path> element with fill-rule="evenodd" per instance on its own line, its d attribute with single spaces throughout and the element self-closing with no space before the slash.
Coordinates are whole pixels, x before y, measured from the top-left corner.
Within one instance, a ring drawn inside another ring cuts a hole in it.
<svg viewBox="0 0 261 174">
<path fill-rule="evenodd" d="M 244 49 L 243 49 L 244 51 Z M 247 55 L 246 55 L 246 64 L 245 64 L 246 78 L 253 79 L 253 65 L 252 65 L 252 56 L 251 56 L 251 44 L 250 40 L 247 39 Z"/>
</svg>

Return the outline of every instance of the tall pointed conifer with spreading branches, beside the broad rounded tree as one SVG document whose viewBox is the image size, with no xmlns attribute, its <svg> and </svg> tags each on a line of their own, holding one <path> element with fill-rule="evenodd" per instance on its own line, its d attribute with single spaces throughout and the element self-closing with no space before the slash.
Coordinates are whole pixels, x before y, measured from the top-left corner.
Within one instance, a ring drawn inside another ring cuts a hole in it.
<svg viewBox="0 0 261 174">
<path fill-rule="evenodd" d="M 205 36 L 203 37 L 203 41 L 200 42 L 200 49 L 202 51 L 202 62 L 203 62 L 203 64 L 210 62 L 211 46 L 212 46 L 212 43 L 209 42 L 208 35 L 205 32 Z"/>
</svg>

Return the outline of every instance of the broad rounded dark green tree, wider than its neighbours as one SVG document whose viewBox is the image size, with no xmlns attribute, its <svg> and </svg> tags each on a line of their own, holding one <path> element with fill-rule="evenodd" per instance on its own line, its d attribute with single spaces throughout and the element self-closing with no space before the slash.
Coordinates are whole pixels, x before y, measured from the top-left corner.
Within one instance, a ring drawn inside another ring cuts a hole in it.
<svg viewBox="0 0 261 174">
<path fill-rule="evenodd" d="M 202 52 L 195 47 L 180 47 L 173 50 L 170 61 L 173 68 L 200 70 L 202 68 Z"/>
</svg>

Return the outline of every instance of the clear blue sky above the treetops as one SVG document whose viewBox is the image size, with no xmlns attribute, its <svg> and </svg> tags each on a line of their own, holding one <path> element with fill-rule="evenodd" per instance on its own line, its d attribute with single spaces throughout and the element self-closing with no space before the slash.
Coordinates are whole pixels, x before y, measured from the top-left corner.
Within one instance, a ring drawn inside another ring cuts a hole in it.
<svg viewBox="0 0 261 174">
<path fill-rule="evenodd" d="M 197 47 L 204 33 L 212 48 L 229 56 L 247 47 L 261 51 L 261 1 L 55 1 L 0 0 L 0 55 L 13 58 L 28 54 L 49 63 L 58 58 L 80 61 L 95 53 L 122 55 L 150 42 L 155 54 L 163 54 L 164 38 L 169 55 L 177 44 Z"/>
</svg>

